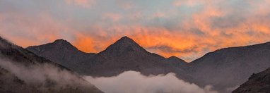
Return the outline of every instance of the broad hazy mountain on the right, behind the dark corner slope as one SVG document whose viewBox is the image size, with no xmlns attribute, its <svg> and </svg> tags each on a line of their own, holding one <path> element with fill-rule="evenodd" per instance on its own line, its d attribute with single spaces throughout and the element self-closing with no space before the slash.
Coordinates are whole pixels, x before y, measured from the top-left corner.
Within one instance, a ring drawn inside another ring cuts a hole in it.
<svg viewBox="0 0 270 93">
<path fill-rule="evenodd" d="M 192 61 L 188 72 L 199 85 L 213 85 L 222 92 L 230 92 L 252 73 L 269 68 L 269 56 L 270 42 L 218 49 Z"/>
</svg>

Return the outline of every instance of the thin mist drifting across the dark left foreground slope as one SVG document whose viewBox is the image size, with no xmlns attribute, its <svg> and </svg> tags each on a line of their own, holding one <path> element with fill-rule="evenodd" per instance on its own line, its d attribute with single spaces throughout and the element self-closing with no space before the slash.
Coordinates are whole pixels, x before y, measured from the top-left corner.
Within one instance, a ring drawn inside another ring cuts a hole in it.
<svg viewBox="0 0 270 93">
<path fill-rule="evenodd" d="M 8 70 L 9 73 L 22 80 L 24 87 L 35 87 L 40 92 L 93 92 L 95 87 L 90 85 L 81 77 L 70 73 L 67 70 L 57 68 L 51 64 L 43 63 L 36 65 L 23 65 L 13 61 L 0 58 L 0 68 Z M 11 86 L 13 82 L 10 82 Z M 6 86 L 6 85 L 5 85 Z M 23 87 L 18 87 L 22 88 Z M 16 91 L 16 89 L 14 89 Z M 31 92 L 31 90 L 28 90 Z"/>
</svg>

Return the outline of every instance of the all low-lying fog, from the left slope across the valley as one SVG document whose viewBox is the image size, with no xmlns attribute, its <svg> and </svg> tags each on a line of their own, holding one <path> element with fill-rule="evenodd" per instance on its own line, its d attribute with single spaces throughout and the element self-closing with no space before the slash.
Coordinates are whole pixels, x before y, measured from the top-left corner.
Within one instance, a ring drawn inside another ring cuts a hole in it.
<svg viewBox="0 0 270 93">
<path fill-rule="evenodd" d="M 81 82 L 86 82 L 50 65 L 25 67 L 18 63 L 0 60 L 0 66 L 27 83 L 46 85 L 48 78 L 58 82 L 57 85 L 83 85 L 84 83 Z M 145 76 L 136 71 L 126 71 L 115 77 L 83 76 L 83 78 L 105 93 L 218 93 L 211 85 L 199 87 L 179 80 L 174 73 Z"/>
</svg>

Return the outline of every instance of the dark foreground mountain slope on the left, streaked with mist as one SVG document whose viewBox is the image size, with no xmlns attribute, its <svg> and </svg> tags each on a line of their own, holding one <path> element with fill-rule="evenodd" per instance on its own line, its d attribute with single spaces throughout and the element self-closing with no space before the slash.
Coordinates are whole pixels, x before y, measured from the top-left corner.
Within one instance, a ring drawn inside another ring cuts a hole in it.
<svg viewBox="0 0 270 93">
<path fill-rule="evenodd" d="M 0 92 L 101 93 L 64 66 L 0 37 Z"/>
</svg>

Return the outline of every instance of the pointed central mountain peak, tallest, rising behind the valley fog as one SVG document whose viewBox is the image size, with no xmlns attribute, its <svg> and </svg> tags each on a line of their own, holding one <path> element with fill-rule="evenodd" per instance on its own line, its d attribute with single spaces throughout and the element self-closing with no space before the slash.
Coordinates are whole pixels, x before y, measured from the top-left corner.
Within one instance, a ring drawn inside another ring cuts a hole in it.
<svg viewBox="0 0 270 93">
<path fill-rule="evenodd" d="M 175 73 L 176 71 L 182 76 L 185 75 L 180 66 L 173 66 L 163 56 L 149 53 L 129 37 L 122 37 L 89 61 L 92 64 L 86 66 L 91 66 L 88 70 L 90 75 L 98 76 L 103 73 L 102 75 L 112 76 L 127 70 L 139 71 L 143 75 Z"/>
</svg>

